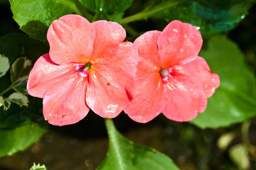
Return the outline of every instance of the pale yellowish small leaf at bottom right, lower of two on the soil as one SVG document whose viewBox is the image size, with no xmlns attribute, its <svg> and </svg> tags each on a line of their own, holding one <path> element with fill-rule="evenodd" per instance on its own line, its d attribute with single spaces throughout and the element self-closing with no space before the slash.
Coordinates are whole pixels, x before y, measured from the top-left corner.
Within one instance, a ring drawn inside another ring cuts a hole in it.
<svg viewBox="0 0 256 170">
<path fill-rule="evenodd" d="M 230 159 L 242 170 L 250 168 L 248 148 L 244 144 L 236 144 L 229 149 Z"/>
</svg>

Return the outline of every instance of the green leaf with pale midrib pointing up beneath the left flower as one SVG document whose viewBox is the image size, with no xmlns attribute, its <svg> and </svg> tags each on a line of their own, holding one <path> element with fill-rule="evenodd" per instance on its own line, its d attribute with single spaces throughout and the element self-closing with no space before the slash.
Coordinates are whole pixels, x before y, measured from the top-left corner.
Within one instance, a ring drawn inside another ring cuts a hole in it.
<svg viewBox="0 0 256 170">
<path fill-rule="evenodd" d="M 173 161 L 149 147 L 134 144 L 122 136 L 112 119 L 105 119 L 109 148 L 97 170 L 178 170 Z"/>
</svg>

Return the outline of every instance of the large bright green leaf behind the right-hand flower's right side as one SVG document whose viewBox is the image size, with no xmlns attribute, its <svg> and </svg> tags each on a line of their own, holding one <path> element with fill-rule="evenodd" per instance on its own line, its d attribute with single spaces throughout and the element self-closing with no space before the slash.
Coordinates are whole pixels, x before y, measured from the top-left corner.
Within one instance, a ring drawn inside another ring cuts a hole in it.
<svg viewBox="0 0 256 170">
<path fill-rule="evenodd" d="M 208 99 L 206 111 L 190 122 L 201 128 L 218 128 L 255 116 L 256 79 L 237 45 L 225 36 L 214 37 L 199 55 L 219 75 L 221 85 Z"/>
</svg>

